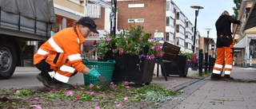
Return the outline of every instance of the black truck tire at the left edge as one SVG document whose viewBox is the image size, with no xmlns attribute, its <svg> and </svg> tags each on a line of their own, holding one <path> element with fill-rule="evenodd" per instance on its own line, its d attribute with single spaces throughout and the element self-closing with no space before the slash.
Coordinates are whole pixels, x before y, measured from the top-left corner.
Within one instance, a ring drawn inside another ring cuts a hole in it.
<svg viewBox="0 0 256 109">
<path fill-rule="evenodd" d="M 9 79 L 14 74 L 17 56 L 16 49 L 10 41 L 3 41 L 0 45 L 0 80 Z"/>
</svg>

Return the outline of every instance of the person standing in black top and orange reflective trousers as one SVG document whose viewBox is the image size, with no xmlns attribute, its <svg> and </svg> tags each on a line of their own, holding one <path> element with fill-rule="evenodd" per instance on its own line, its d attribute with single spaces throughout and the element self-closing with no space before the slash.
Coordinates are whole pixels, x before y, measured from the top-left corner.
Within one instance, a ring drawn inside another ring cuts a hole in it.
<svg viewBox="0 0 256 109">
<path fill-rule="evenodd" d="M 213 73 L 210 77 L 211 80 L 220 79 L 223 65 L 225 71 L 224 79 L 234 80 L 234 78 L 230 76 L 234 55 L 234 40 L 232 38 L 231 33 L 231 23 L 240 25 L 241 21 L 232 18 L 229 12 L 227 12 L 226 10 L 224 10 L 222 15 L 218 18 L 218 20 L 215 23 L 218 36 L 216 44 L 217 59 L 214 64 Z M 225 64 L 223 64 L 224 60 L 226 60 Z"/>
</svg>

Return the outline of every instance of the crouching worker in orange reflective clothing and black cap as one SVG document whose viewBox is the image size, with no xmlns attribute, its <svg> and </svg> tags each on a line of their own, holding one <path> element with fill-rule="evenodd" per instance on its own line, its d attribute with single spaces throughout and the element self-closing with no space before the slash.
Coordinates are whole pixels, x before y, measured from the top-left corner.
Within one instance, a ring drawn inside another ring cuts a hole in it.
<svg viewBox="0 0 256 109">
<path fill-rule="evenodd" d="M 80 45 L 91 32 L 98 33 L 96 27 L 91 18 L 80 18 L 75 22 L 74 27 L 62 29 L 38 49 L 34 54 L 34 65 L 42 71 L 37 78 L 45 87 L 73 88 L 67 82 L 77 72 L 96 78 L 105 87 L 110 86 L 110 82 L 95 68 L 87 68 L 82 63 Z"/>
</svg>

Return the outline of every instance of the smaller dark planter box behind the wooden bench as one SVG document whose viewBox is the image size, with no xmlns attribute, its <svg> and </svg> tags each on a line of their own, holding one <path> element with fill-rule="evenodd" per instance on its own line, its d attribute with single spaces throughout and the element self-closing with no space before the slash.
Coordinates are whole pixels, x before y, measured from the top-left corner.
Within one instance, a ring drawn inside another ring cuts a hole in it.
<svg viewBox="0 0 256 109">
<path fill-rule="evenodd" d="M 178 75 L 180 77 L 186 77 L 187 72 L 188 72 L 188 61 L 186 56 L 178 56 L 177 57 L 177 64 L 180 73 L 178 72 L 178 68 L 174 66 L 174 64 L 170 64 L 167 62 L 163 63 L 165 68 L 166 68 L 166 75 Z"/>
</svg>

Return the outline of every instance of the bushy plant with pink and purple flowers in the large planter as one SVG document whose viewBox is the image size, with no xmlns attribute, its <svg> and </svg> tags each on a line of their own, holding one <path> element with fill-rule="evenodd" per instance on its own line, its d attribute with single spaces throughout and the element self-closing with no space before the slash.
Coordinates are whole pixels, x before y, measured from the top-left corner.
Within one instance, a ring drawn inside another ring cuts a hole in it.
<svg viewBox="0 0 256 109">
<path fill-rule="evenodd" d="M 101 38 L 98 45 L 95 45 L 93 50 L 97 52 L 98 59 L 104 58 L 110 50 L 120 55 L 145 57 L 147 60 L 153 60 L 163 55 L 160 43 L 154 41 L 151 33 L 145 33 L 142 25 L 130 24 L 128 29 L 118 31 L 119 34 L 116 36 L 108 34 Z M 147 51 L 143 49 L 146 47 L 148 47 Z"/>
</svg>

